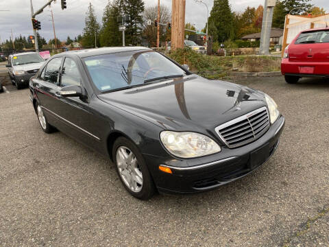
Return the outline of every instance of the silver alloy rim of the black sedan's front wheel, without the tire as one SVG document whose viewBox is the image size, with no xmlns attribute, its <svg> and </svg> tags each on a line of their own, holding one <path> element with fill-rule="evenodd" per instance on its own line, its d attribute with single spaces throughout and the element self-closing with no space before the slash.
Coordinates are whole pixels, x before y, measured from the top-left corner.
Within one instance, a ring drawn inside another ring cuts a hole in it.
<svg viewBox="0 0 329 247">
<path fill-rule="evenodd" d="M 123 183 L 133 192 L 138 193 L 143 187 L 143 174 L 134 153 L 121 146 L 116 153 L 117 167 Z"/>
</svg>

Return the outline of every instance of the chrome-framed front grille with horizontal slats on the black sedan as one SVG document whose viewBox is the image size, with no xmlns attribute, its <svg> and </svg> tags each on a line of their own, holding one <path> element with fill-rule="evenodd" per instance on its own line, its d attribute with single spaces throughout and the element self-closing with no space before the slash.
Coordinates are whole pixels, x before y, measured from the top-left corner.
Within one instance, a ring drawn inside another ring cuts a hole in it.
<svg viewBox="0 0 329 247">
<path fill-rule="evenodd" d="M 269 114 L 262 107 L 215 128 L 228 148 L 237 148 L 255 141 L 269 129 Z"/>
</svg>

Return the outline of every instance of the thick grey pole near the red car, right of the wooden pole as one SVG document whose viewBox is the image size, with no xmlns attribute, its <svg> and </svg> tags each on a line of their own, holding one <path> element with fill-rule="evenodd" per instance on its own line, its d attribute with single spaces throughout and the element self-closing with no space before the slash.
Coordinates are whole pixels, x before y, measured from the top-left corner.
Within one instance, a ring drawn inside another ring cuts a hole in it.
<svg viewBox="0 0 329 247">
<path fill-rule="evenodd" d="M 276 0 L 265 0 L 259 54 L 269 54 L 269 40 L 271 38 L 273 10 L 275 6 Z"/>
</svg>

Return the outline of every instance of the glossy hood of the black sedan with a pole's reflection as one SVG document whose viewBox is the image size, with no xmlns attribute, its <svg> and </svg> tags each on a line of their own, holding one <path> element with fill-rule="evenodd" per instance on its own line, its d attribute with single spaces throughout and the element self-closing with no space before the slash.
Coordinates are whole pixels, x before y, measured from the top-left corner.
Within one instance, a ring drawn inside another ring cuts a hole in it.
<svg viewBox="0 0 329 247">
<path fill-rule="evenodd" d="M 198 75 L 98 97 L 164 129 L 178 131 L 212 131 L 226 121 L 266 106 L 260 91 Z"/>
</svg>

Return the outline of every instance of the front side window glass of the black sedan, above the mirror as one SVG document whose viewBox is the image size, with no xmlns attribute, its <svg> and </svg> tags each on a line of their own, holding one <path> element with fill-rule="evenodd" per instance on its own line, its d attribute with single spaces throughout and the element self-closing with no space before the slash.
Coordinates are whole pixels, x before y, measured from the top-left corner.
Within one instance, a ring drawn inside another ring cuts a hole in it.
<svg viewBox="0 0 329 247">
<path fill-rule="evenodd" d="M 80 73 L 77 64 L 71 58 L 65 58 L 60 86 L 80 86 Z"/>
</svg>

